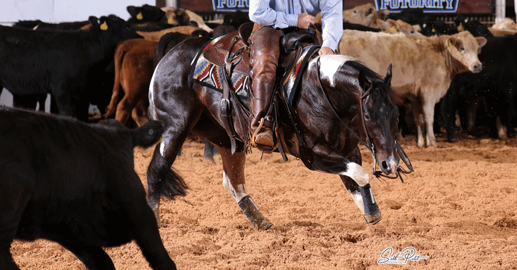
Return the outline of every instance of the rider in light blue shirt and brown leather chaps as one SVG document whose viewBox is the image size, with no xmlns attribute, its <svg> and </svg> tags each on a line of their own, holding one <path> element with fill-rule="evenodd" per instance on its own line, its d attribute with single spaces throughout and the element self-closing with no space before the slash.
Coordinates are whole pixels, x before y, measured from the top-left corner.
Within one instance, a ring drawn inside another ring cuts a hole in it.
<svg viewBox="0 0 517 270">
<path fill-rule="evenodd" d="M 282 29 L 314 26 L 314 16 L 321 11 L 323 39 L 320 55 L 333 54 L 343 35 L 342 0 L 249 0 L 249 17 L 253 31 L 249 38 L 252 95 L 250 133 L 255 147 L 275 145 L 272 119 L 266 111 L 275 88 Z M 311 27 L 315 29 L 315 27 Z M 317 33 L 320 34 L 320 33 Z"/>
</svg>

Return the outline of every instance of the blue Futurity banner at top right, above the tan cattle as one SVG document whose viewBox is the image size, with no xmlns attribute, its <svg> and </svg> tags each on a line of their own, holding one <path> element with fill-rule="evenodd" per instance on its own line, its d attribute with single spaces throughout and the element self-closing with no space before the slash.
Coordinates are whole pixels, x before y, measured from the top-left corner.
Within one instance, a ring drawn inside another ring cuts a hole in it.
<svg viewBox="0 0 517 270">
<path fill-rule="evenodd" d="M 215 0 L 214 0 L 215 1 Z M 423 12 L 456 12 L 459 0 L 375 0 L 377 10 L 400 12 L 408 8 L 422 8 Z"/>
</svg>

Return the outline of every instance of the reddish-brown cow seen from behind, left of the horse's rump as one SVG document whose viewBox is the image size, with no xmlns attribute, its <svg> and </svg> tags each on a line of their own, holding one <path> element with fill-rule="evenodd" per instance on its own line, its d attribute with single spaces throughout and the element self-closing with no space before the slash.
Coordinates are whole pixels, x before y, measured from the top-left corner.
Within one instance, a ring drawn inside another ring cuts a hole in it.
<svg viewBox="0 0 517 270">
<path fill-rule="evenodd" d="M 106 107 L 104 117 L 111 116 L 116 109 L 115 119 L 123 124 L 132 117 L 140 127 L 147 123 L 147 93 L 153 77 L 153 55 L 157 41 L 129 39 L 120 42 L 115 50 L 115 83 L 111 102 Z M 118 105 L 118 94 L 122 87 L 125 95 Z"/>
</svg>

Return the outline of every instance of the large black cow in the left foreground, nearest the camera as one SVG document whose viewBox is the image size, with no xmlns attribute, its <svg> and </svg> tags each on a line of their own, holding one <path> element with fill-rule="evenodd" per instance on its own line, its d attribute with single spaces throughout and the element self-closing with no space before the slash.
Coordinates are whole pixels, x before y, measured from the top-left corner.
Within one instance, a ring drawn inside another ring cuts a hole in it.
<svg viewBox="0 0 517 270">
<path fill-rule="evenodd" d="M 14 239 L 48 239 L 87 269 L 115 269 L 102 247 L 135 240 L 151 268 L 176 269 L 160 238 L 133 148 L 161 137 L 160 122 L 130 130 L 110 119 L 0 108 L 0 269 L 19 269 Z"/>
</svg>

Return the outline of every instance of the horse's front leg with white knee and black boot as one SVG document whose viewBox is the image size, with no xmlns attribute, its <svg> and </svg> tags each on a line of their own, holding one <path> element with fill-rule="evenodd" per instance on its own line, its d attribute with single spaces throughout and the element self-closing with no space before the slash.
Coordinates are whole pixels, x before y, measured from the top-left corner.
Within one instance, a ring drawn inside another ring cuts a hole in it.
<svg viewBox="0 0 517 270">
<path fill-rule="evenodd" d="M 370 176 L 361 166 L 359 147 L 354 149 L 350 159 L 323 144 L 317 144 L 313 151 L 313 167 L 322 172 L 339 174 L 366 222 L 375 224 L 381 221 L 381 211 L 373 198 L 369 183 Z"/>
</svg>

